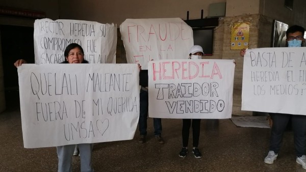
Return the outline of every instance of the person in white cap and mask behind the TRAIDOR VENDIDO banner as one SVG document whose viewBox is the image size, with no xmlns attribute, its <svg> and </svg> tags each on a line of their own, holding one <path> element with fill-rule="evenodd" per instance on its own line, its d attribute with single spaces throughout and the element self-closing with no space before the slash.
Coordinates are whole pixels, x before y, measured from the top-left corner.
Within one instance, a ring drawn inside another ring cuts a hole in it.
<svg viewBox="0 0 306 172">
<path fill-rule="evenodd" d="M 202 59 L 203 48 L 199 45 L 194 45 L 190 48 L 189 59 Z M 191 124 L 192 123 L 192 124 Z M 183 148 L 179 154 L 180 157 L 186 157 L 188 153 L 189 129 L 192 126 L 192 153 L 195 158 L 201 158 L 202 155 L 198 149 L 200 136 L 201 119 L 183 119 L 182 138 Z"/>
</svg>

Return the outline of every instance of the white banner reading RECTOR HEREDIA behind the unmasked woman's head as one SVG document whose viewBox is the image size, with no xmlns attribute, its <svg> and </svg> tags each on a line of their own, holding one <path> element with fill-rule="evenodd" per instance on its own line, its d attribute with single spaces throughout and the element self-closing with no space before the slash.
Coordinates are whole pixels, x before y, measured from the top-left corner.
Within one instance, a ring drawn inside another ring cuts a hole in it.
<svg viewBox="0 0 306 172">
<path fill-rule="evenodd" d="M 35 64 L 65 61 L 67 45 L 77 43 L 89 63 L 116 63 L 117 26 L 83 20 L 37 19 L 34 23 Z"/>
</svg>

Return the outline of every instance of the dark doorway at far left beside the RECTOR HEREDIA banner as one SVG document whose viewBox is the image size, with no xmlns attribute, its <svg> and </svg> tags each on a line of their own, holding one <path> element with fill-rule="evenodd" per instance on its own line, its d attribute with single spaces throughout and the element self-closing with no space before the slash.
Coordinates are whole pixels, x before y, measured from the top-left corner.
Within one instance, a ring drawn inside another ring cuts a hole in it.
<svg viewBox="0 0 306 172">
<path fill-rule="evenodd" d="M 34 63 L 34 27 L 0 25 L 6 108 L 19 108 L 18 73 L 14 62 Z"/>
</svg>

